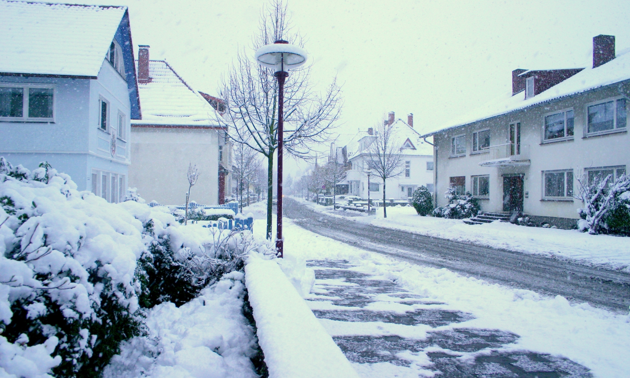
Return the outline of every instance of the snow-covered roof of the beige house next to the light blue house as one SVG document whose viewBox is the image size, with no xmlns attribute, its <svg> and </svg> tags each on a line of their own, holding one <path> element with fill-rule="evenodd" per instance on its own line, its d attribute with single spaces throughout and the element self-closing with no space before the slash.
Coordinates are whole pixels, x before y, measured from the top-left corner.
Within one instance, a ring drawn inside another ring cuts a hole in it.
<svg viewBox="0 0 630 378">
<path fill-rule="evenodd" d="M 142 120 L 132 125 L 220 127 L 214 108 L 166 60 L 151 60 L 149 77 L 138 83 Z"/>
</svg>

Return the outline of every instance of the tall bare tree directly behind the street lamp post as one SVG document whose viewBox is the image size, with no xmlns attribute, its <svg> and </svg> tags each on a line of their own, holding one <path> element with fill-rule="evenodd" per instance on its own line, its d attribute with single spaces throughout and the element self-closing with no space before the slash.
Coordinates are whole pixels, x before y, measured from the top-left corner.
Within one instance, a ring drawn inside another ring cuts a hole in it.
<svg viewBox="0 0 630 378">
<path fill-rule="evenodd" d="M 287 20 L 287 6 L 282 0 L 272 3 L 261 13 L 258 35 L 251 49 L 243 49 L 219 92 L 227 102 L 227 113 L 221 122 L 231 130 L 229 137 L 247 144 L 267 158 L 267 229 L 272 236 L 273 154 L 278 148 L 278 86 L 272 69 L 253 62 L 251 55 L 263 45 L 277 40 L 303 46 L 302 37 L 292 32 Z M 311 66 L 290 72 L 284 93 L 284 149 L 294 156 L 307 157 L 312 142 L 328 140 L 331 127 L 341 112 L 340 86 L 336 78 L 325 93 L 316 93 L 309 83 Z"/>
</svg>

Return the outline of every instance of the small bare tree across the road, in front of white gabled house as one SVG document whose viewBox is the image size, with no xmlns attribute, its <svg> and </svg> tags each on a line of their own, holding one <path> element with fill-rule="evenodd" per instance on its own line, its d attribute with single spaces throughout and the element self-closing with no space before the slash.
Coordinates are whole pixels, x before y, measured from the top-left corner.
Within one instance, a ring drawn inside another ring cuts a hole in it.
<svg viewBox="0 0 630 378">
<path fill-rule="evenodd" d="M 385 186 L 388 178 L 393 178 L 403 173 L 403 156 L 401 155 L 401 143 L 394 133 L 391 125 L 384 123 L 375 127 L 376 136 L 366 149 L 364 156 L 368 169 L 383 180 L 383 217 L 387 218 L 385 202 Z M 369 188 L 368 188 L 369 190 Z"/>
</svg>

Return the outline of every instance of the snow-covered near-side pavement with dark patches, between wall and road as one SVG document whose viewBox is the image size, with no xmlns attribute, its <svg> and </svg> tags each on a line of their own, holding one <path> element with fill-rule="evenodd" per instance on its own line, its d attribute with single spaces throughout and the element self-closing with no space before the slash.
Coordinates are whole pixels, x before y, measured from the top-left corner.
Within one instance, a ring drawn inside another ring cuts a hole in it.
<svg viewBox="0 0 630 378">
<path fill-rule="evenodd" d="M 626 314 L 396 261 L 284 224 L 287 258 L 316 268 L 311 308 L 363 377 L 630 372 Z M 263 227 L 256 221 L 255 232 Z"/>
</svg>

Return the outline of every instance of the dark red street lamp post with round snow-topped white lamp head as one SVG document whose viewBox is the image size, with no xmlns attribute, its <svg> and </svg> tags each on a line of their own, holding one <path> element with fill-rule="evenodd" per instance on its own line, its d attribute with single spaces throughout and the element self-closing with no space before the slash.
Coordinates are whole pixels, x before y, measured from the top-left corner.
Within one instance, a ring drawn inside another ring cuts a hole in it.
<svg viewBox="0 0 630 378">
<path fill-rule="evenodd" d="M 284 40 L 277 40 L 271 45 L 265 45 L 255 54 L 258 64 L 274 70 L 278 80 L 278 204 L 276 249 L 278 256 L 284 256 L 282 240 L 282 144 L 284 133 L 284 81 L 289 76 L 289 69 L 302 66 L 306 62 L 306 51 L 301 47 L 290 45 Z"/>
</svg>

